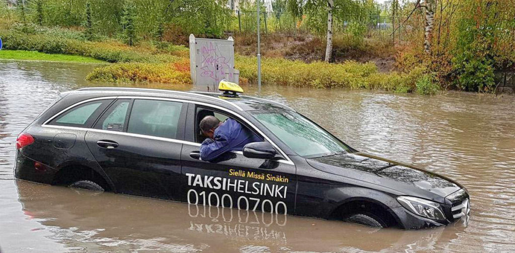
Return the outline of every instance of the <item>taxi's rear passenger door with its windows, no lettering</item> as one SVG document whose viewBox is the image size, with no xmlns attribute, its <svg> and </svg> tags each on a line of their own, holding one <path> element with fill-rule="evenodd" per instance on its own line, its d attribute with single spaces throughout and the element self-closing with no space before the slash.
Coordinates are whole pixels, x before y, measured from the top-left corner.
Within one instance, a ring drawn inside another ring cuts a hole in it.
<svg viewBox="0 0 515 253">
<path fill-rule="evenodd" d="M 91 153 L 116 192 L 179 198 L 186 106 L 166 99 L 118 99 L 87 132 Z"/>
</svg>

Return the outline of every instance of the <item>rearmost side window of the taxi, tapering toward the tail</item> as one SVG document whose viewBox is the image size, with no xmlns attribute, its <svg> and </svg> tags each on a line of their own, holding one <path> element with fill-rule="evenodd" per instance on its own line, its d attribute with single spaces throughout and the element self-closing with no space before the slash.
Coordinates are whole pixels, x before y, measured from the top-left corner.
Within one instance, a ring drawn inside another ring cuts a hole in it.
<svg viewBox="0 0 515 253">
<path fill-rule="evenodd" d="M 48 125 L 91 127 L 112 99 L 95 100 L 73 107 L 50 121 Z"/>
</svg>

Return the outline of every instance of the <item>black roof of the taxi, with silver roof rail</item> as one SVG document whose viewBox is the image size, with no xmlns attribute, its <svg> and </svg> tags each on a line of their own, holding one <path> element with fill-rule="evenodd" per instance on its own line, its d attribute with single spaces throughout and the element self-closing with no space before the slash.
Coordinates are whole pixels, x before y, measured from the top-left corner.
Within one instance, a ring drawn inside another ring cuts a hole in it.
<svg viewBox="0 0 515 253">
<path fill-rule="evenodd" d="M 185 100 L 192 100 L 217 106 L 223 106 L 233 110 L 252 111 L 252 110 L 269 110 L 269 109 L 286 109 L 292 110 L 286 105 L 273 102 L 271 100 L 251 97 L 251 96 L 238 96 L 227 97 L 222 96 L 222 93 L 215 92 L 199 92 L 199 91 L 174 91 L 174 90 L 161 90 L 161 89 L 146 89 L 146 88 L 122 88 L 122 87 L 93 87 L 82 88 L 71 92 L 73 93 L 98 93 L 106 96 L 150 96 L 150 97 L 165 97 L 165 98 L 178 98 Z"/>
</svg>

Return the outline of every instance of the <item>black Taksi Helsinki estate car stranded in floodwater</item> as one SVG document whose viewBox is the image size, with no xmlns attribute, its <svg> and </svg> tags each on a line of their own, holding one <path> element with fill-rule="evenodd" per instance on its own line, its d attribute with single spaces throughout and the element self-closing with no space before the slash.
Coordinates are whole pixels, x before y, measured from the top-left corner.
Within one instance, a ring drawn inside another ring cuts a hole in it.
<svg viewBox="0 0 515 253">
<path fill-rule="evenodd" d="M 263 141 L 202 161 L 206 115 Z M 402 229 L 447 225 L 470 210 L 451 179 L 359 152 L 287 106 L 228 91 L 65 92 L 16 148 L 18 179 L 189 204 Z"/>
</svg>

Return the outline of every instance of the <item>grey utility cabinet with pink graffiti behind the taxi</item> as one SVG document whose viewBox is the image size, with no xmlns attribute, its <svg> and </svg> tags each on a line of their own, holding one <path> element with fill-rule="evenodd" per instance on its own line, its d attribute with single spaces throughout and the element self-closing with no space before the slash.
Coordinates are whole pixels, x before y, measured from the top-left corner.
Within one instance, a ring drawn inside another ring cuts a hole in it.
<svg viewBox="0 0 515 253">
<path fill-rule="evenodd" d="M 234 40 L 202 39 L 190 35 L 190 72 L 193 85 L 214 89 L 222 79 L 238 83 L 234 69 Z"/>
</svg>

